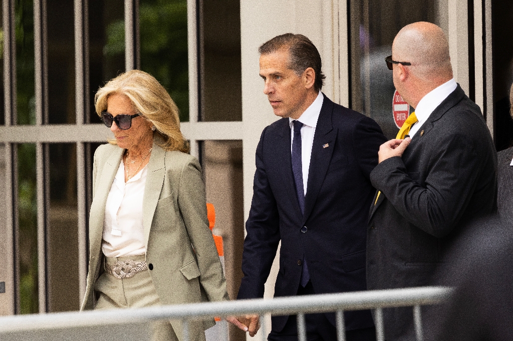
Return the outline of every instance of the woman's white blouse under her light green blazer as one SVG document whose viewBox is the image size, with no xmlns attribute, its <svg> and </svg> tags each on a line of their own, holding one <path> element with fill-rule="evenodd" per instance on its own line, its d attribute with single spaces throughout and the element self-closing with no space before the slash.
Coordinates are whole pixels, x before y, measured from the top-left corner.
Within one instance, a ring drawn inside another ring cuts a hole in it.
<svg viewBox="0 0 513 341">
<path fill-rule="evenodd" d="M 148 166 L 125 183 L 121 160 L 110 187 L 103 225 L 102 251 L 106 257 L 146 253 L 143 228 L 143 196 Z"/>
</svg>

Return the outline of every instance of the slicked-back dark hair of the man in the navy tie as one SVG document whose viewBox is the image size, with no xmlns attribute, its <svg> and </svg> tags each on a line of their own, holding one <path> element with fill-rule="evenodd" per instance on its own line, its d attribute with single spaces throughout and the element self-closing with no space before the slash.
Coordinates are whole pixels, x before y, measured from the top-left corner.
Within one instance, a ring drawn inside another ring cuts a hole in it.
<svg viewBox="0 0 513 341">
<path fill-rule="evenodd" d="M 308 68 L 312 68 L 315 71 L 313 89 L 320 91 L 326 76 L 322 73 L 321 55 L 310 39 L 302 34 L 285 33 L 264 42 L 259 47 L 258 52 L 260 54 L 269 54 L 281 49 L 286 49 L 289 52 L 287 67 L 298 76 L 301 76 Z"/>
</svg>

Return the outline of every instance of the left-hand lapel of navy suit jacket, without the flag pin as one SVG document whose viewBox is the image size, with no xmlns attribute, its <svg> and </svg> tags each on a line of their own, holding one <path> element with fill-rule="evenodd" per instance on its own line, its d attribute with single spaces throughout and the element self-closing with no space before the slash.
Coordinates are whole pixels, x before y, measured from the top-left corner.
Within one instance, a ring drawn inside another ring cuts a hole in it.
<svg viewBox="0 0 513 341">
<path fill-rule="evenodd" d="M 283 185 L 287 198 L 291 199 L 293 209 L 296 211 L 298 217 L 301 217 L 301 208 L 299 207 L 298 194 L 295 190 L 294 175 L 292 173 L 292 152 L 291 152 L 291 138 L 290 138 L 290 123 L 289 119 L 283 119 L 283 126 L 279 130 L 279 134 L 275 137 L 277 140 L 274 142 L 276 146 L 277 158 L 281 161 L 282 166 L 279 167 L 280 173 L 283 178 Z"/>
</svg>

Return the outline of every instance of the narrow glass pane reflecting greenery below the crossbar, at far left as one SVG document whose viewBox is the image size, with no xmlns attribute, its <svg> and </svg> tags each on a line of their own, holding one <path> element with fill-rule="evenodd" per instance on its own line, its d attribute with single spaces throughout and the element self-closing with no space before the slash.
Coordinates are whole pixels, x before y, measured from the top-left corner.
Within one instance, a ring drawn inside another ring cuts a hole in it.
<svg viewBox="0 0 513 341">
<path fill-rule="evenodd" d="M 35 144 L 17 145 L 19 313 L 39 312 Z"/>
</svg>

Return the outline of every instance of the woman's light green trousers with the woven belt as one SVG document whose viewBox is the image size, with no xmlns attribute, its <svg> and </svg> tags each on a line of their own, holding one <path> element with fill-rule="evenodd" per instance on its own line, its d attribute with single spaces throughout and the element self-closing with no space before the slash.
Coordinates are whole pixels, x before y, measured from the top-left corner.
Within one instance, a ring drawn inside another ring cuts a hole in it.
<svg viewBox="0 0 513 341">
<path fill-rule="evenodd" d="M 145 260 L 144 255 L 128 258 L 136 262 Z M 128 258 L 105 257 L 105 262 L 112 267 L 114 262 Z M 141 308 L 161 304 L 148 270 L 137 272 L 133 277 L 121 280 L 105 271 L 94 284 L 94 290 L 99 293 L 94 309 Z M 153 323 L 151 339 L 178 341 L 173 327 L 167 320 Z"/>
</svg>

